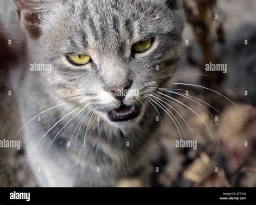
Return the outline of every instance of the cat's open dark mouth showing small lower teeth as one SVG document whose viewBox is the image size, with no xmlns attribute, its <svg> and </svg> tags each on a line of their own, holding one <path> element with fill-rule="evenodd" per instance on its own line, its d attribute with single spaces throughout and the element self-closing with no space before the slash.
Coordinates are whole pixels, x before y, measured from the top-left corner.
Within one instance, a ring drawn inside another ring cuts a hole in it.
<svg viewBox="0 0 256 205">
<path fill-rule="evenodd" d="M 110 121 L 127 121 L 140 115 L 140 107 L 138 105 L 126 106 L 121 105 L 118 109 L 107 112 Z"/>
</svg>

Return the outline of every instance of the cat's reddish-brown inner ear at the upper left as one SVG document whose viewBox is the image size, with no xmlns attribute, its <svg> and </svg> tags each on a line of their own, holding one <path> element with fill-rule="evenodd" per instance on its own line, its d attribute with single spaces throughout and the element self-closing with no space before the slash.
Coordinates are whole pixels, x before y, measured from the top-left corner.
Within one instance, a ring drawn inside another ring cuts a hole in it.
<svg viewBox="0 0 256 205">
<path fill-rule="evenodd" d="M 41 36 L 41 15 L 38 8 L 43 5 L 44 0 L 12 0 L 14 2 L 19 22 L 26 34 L 33 39 Z"/>
</svg>

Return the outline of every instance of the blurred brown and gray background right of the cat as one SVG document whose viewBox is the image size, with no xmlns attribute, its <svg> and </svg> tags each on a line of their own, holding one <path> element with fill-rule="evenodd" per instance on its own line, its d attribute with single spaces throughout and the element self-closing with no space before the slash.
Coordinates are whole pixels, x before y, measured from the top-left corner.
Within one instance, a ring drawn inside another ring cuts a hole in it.
<svg viewBox="0 0 256 205">
<path fill-rule="evenodd" d="M 183 6 L 183 57 L 169 83 L 185 83 L 172 84 L 179 93 L 172 97 L 200 118 L 169 104 L 190 125 L 193 132 L 173 111 L 197 150 L 177 148 L 177 128 L 163 117 L 151 186 L 256 187 L 256 1 L 183 0 Z M 206 71 L 209 63 L 226 65 L 227 72 Z"/>
</svg>

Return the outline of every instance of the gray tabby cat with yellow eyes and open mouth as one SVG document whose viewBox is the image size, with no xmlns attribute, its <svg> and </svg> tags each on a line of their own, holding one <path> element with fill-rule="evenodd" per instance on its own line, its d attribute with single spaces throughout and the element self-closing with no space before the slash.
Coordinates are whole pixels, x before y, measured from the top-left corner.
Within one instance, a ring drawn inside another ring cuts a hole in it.
<svg viewBox="0 0 256 205">
<path fill-rule="evenodd" d="M 181 2 L 13 2 L 17 15 L 5 0 L 1 26 L 23 56 L 10 81 L 25 125 L 24 173 L 30 167 L 44 187 L 116 186 L 143 173 L 148 186 L 158 115 L 148 114 L 149 97 L 178 67 Z"/>
</svg>

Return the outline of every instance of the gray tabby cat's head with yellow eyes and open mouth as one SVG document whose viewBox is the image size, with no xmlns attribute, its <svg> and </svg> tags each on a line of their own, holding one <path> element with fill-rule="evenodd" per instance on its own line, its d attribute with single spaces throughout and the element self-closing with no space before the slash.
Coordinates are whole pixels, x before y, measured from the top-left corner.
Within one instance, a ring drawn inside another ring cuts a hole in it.
<svg viewBox="0 0 256 205">
<path fill-rule="evenodd" d="M 14 0 L 32 59 L 112 126 L 142 119 L 146 100 L 178 66 L 180 0 Z M 29 68 L 28 68 L 29 69 Z M 43 73 L 44 71 L 42 71 Z M 65 96 L 62 96 L 65 97 Z M 59 97 L 60 98 L 60 97 Z"/>
</svg>

